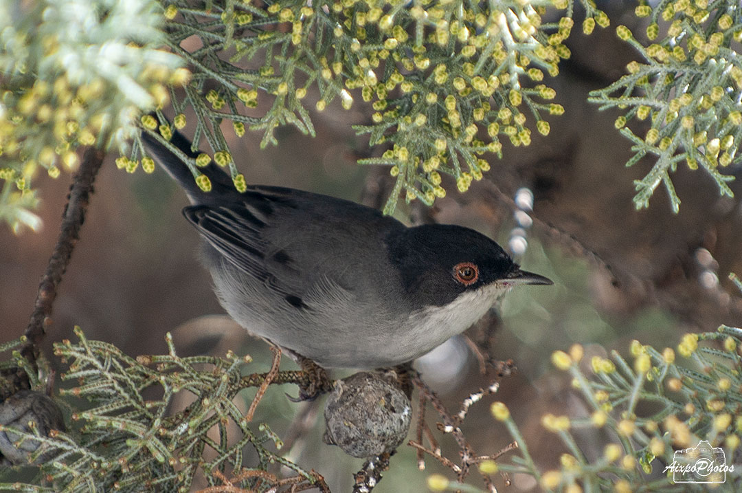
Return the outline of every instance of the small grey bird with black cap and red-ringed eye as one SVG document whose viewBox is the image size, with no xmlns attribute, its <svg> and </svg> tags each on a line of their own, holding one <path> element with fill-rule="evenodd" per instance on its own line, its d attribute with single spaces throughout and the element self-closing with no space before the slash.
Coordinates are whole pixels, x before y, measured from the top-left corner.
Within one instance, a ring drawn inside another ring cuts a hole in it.
<svg viewBox="0 0 742 493">
<path fill-rule="evenodd" d="M 516 284 L 553 284 L 521 270 L 494 241 L 444 224 L 408 227 L 349 200 L 278 186 L 237 192 L 211 163 L 203 192 L 183 160 L 142 132 L 145 154 L 185 189 L 183 215 L 232 318 L 322 368 L 412 362 L 479 320 Z M 197 154 L 182 134 L 170 140 Z"/>
</svg>

